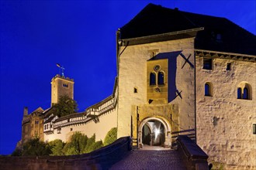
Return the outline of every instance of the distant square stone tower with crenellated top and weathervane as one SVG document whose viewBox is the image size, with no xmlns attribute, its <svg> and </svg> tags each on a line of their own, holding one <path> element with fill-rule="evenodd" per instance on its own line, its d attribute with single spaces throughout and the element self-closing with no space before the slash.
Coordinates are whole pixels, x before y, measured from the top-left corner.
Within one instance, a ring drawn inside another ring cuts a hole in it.
<svg viewBox="0 0 256 170">
<path fill-rule="evenodd" d="M 74 99 L 74 80 L 57 74 L 51 80 L 51 106 L 64 95 Z"/>
</svg>

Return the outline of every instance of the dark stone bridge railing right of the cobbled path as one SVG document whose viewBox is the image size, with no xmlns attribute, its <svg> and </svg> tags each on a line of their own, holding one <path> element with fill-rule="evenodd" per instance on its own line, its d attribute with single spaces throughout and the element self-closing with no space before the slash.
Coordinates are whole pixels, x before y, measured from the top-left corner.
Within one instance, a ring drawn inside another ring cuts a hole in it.
<svg viewBox="0 0 256 170">
<path fill-rule="evenodd" d="M 192 139 L 186 135 L 178 135 L 177 144 L 187 169 L 209 170 L 208 155 Z"/>
</svg>

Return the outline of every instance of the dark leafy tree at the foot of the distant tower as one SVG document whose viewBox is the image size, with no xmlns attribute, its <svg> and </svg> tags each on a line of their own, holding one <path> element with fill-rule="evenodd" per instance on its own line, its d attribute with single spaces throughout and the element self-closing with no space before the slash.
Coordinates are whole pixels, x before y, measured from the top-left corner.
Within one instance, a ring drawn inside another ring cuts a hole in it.
<svg viewBox="0 0 256 170">
<path fill-rule="evenodd" d="M 58 117 L 64 117 L 68 114 L 74 114 L 78 111 L 78 104 L 67 95 L 61 96 L 57 104 L 54 104 L 50 112 Z"/>
</svg>

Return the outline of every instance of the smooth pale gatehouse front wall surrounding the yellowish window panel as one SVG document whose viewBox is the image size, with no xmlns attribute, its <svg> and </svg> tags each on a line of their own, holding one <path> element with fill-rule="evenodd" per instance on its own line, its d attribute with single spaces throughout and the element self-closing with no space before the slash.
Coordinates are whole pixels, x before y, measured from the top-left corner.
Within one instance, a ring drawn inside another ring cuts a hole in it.
<svg viewBox="0 0 256 170">
<path fill-rule="evenodd" d="M 131 116 L 137 105 L 148 104 L 147 101 L 147 60 L 152 56 L 152 51 L 167 53 L 182 51 L 194 65 L 194 39 L 178 39 L 164 42 L 153 42 L 142 45 L 121 47 L 123 53 L 119 56 L 119 107 L 118 107 L 118 138 L 130 135 Z M 179 126 L 181 129 L 195 128 L 194 108 L 194 68 L 185 63 L 182 56 L 177 57 L 175 85 L 181 97 L 176 97 L 170 104 L 178 104 Z M 137 87 L 138 93 L 133 93 Z M 165 113 L 171 114 L 171 113 Z M 136 115 L 133 115 L 133 117 Z"/>
</svg>

